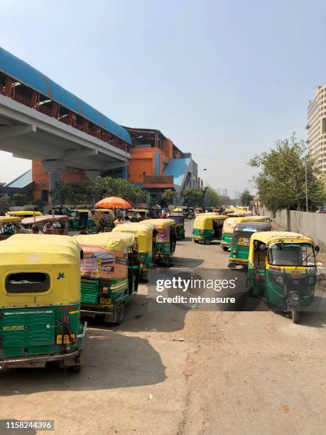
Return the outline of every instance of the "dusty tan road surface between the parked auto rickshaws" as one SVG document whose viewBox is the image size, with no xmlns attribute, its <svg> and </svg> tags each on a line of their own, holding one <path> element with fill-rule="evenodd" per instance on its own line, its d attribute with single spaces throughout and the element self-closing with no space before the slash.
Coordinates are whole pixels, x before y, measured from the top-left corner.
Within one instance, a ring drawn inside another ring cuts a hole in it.
<svg viewBox="0 0 326 435">
<path fill-rule="evenodd" d="M 227 254 L 189 237 L 173 263 L 225 268 Z M 123 326 L 89 326 L 80 374 L 0 370 L 0 418 L 54 419 L 58 434 L 325 434 L 325 314 L 147 302 L 142 285 Z"/>
</svg>

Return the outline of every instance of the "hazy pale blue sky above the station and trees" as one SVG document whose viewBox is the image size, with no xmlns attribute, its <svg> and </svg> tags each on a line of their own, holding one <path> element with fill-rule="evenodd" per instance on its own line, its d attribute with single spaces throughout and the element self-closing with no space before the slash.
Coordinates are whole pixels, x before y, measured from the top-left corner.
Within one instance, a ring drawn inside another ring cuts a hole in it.
<svg viewBox="0 0 326 435">
<path fill-rule="evenodd" d="M 325 0 L 0 1 L 0 44 L 108 117 L 160 129 L 229 193 L 246 162 L 306 138 L 326 82 Z M 31 163 L 0 152 L 0 181 Z"/>
</svg>

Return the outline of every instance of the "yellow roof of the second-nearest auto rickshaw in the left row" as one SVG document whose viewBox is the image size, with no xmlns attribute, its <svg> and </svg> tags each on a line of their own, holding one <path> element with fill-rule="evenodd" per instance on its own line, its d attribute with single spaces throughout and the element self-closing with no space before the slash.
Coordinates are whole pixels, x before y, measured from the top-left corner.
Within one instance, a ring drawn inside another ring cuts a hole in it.
<svg viewBox="0 0 326 435">
<path fill-rule="evenodd" d="M 98 234 L 80 234 L 73 237 L 82 247 L 104 245 L 108 251 L 124 252 L 130 246 L 137 243 L 137 238 L 129 232 L 119 232 L 119 235 L 113 232 L 99 232 Z"/>
</svg>

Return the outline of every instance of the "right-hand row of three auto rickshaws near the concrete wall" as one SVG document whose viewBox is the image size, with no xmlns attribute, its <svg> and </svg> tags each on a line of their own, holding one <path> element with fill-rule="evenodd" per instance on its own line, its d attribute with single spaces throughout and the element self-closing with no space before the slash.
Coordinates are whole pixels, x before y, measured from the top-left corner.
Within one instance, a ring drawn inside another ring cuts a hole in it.
<svg viewBox="0 0 326 435">
<path fill-rule="evenodd" d="M 242 266 L 246 290 L 271 308 L 283 309 L 298 323 L 300 311 L 313 303 L 317 281 L 316 256 L 320 248 L 310 237 L 271 231 L 265 216 L 196 216 L 194 242 L 217 241 L 229 251 L 228 267 Z"/>
</svg>

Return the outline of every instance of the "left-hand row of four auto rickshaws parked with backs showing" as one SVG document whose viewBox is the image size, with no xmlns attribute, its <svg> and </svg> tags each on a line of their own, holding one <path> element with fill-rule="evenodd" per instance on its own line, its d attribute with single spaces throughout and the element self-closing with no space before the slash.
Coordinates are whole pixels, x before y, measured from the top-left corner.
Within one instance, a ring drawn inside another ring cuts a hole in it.
<svg viewBox="0 0 326 435">
<path fill-rule="evenodd" d="M 0 366 L 79 371 L 86 323 L 121 323 L 154 263 L 175 251 L 175 222 L 128 222 L 94 235 L 18 234 L 0 242 Z"/>
</svg>

